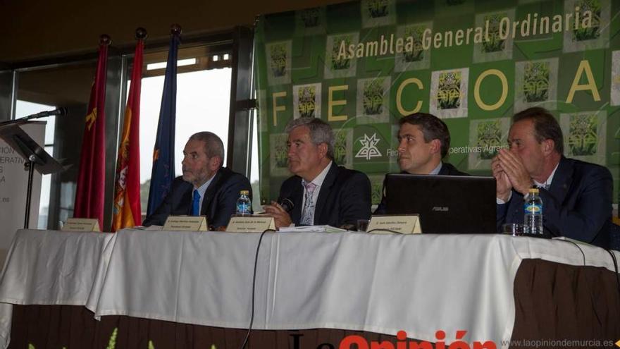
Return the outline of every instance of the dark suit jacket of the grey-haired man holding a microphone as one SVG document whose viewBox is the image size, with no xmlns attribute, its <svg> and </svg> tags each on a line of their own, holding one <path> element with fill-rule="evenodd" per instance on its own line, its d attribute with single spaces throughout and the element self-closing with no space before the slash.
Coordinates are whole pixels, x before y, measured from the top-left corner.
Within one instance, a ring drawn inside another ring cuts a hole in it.
<svg viewBox="0 0 620 349">
<path fill-rule="evenodd" d="M 302 178 L 292 176 L 282 183 L 278 202 L 288 198 L 294 207 L 291 220 L 299 225 L 302 219 L 304 187 Z M 364 173 L 345 169 L 332 162 L 318 192 L 314 209 L 314 225 L 357 226 L 358 219 L 370 219 L 371 182 Z"/>
</svg>

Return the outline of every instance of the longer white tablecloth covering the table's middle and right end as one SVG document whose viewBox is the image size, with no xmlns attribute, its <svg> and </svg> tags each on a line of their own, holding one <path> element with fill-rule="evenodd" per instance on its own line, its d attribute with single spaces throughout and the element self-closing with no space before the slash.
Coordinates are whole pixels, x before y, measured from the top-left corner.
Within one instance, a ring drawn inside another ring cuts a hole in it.
<svg viewBox="0 0 620 349">
<path fill-rule="evenodd" d="M 172 322 L 247 328 L 259 234 L 121 231 L 87 307 Z M 613 270 L 581 245 L 588 265 Z M 566 241 L 507 235 L 268 233 L 256 272 L 256 329 L 353 329 L 436 341 L 507 340 L 524 258 L 581 265 Z M 620 257 L 620 254 L 619 254 Z M 104 281 L 101 281 L 104 280 Z"/>
</svg>

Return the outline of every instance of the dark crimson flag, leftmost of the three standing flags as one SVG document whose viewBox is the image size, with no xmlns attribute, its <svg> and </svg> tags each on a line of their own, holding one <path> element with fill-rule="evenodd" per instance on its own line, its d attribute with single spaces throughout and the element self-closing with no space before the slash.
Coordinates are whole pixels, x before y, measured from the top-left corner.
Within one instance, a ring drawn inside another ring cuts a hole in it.
<svg viewBox="0 0 620 349">
<path fill-rule="evenodd" d="M 96 218 L 103 228 L 104 194 L 106 182 L 106 63 L 110 38 L 101 35 L 97 73 L 90 90 L 90 102 L 85 119 L 80 172 L 77 175 L 75 194 L 76 218 Z"/>
</svg>

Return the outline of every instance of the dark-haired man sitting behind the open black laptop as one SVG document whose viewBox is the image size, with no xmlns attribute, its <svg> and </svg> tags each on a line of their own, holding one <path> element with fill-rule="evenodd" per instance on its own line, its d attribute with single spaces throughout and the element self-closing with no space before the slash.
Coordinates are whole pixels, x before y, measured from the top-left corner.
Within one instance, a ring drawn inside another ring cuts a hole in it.
<svg viewBox="0 0 620 349">
<path fill-rule="evenodd" d="M 414 113 L 399 120 L 398 166 L 401 173 L 419 175 L 469 176 L 442 159 L 450 149 L 450 131 L 437 116 Z M 383 197 L 375 214 L 387 213 L 385 180 Z"/>
</svg>

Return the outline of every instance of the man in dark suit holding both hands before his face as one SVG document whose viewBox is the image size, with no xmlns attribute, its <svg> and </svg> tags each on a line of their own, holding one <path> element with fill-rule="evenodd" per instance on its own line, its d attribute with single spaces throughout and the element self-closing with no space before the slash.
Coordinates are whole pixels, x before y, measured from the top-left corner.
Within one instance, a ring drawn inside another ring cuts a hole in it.
<svg viewBox="0 0 620 349">
<path fill-rule="evenodd" d="M 509 149 L 492 161 L 497 180 L 497 228 L 523 222 L 523 195 L 538 186 L 543 199 L 543 231 L 609 248 L 612 175 L 603 166 L 567 159 L 562 129 L 545 109 L 513 117 Z"/>
</svg>

